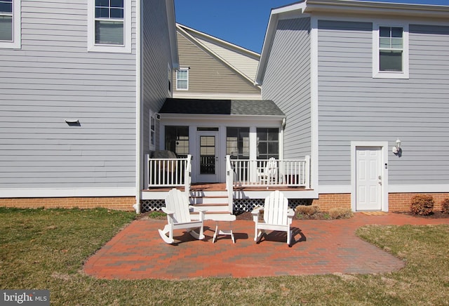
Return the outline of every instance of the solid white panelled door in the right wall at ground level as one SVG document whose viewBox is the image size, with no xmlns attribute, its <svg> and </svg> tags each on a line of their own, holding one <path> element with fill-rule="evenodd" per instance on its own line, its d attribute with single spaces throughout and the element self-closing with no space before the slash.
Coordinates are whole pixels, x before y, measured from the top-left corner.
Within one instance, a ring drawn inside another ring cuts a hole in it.
<svg viewBox="0 0 449 306">
<path fill-rule="evenodd" d="M 382 148 L 356 147 L 356 211 L 382 209 Z"/>
</svg>

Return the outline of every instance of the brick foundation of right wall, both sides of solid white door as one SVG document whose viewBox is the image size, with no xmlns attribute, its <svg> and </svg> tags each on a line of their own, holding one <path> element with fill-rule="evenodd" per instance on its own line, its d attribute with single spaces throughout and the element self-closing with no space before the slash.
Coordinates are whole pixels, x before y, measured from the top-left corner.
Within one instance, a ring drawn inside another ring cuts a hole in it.
<svg viewBox="0 0 449 306">
<path fill-rule="evenodd" d="M 391 193 L 388 195 L 389 211 L 410 211 L 410 201 L 419 193 Z M 449 199 L 449 193 L 425 193 L 434 197 L 434 211 L 441 211 L 443 199 Z M 330 208 L 351 208 L 351 194 L 320 194 L 312 204 L 320 206 L 321 211 Z"/>
</svg>

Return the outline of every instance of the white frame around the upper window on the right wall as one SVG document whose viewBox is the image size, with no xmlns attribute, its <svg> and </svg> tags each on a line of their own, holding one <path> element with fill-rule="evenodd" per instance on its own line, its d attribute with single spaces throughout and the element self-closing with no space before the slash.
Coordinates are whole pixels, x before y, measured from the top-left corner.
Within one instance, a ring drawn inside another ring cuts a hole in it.
<svg viewBox="0 0 449 306">
<path fill-rule="evenodd" d="M 401 27 L 403 29 L 403 53 L 402 53 L 402 70 L 396 71 L 380 71 L 380 27 Z M 373 24 L 373 78 L 374 79 L 409 79 L 409 51 L 408 51 L 408 23 L 398 22 L 382 22 Z"/>
</svg>

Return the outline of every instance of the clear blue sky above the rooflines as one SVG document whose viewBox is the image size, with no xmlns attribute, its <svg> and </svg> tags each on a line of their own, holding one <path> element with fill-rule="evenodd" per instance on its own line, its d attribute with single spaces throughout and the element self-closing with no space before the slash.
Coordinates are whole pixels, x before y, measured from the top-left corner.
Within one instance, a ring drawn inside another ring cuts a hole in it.
<svg viewBox="0 0 449 306">
<path fill-rule="evenodd" d="M 175 14 L 176 21 L 182 25 L 260 53 L 271 9 L 295 2 L 297 1 L 175 0 Z M 449 0 L 382 0 L 381 2 L 449 5 Z"/>
</svg>

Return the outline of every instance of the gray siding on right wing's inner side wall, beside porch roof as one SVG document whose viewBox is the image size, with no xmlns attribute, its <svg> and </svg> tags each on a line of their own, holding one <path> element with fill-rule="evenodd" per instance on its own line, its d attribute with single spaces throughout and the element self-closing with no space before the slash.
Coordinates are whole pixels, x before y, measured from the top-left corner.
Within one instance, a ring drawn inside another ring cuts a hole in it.
<svg viewBox="0 0 449 306">
<path fill-rule="evenodd" d="M 286 114 L 284 156 L 311 154 L 310 18 L 280 20 L 262 85 L 262 99 Z"/>
</svg>

